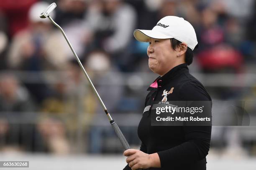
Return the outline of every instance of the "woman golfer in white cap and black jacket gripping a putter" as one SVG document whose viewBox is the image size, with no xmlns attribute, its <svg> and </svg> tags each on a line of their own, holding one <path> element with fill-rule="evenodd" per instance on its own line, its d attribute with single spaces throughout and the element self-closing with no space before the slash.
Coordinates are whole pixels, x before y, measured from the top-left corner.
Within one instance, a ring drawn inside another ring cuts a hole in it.
<svg viewBox="0 0 256 170">
<path fill-rule="evenodd" d="M 124 170 L 206 170 L 211 126 L 151 126 L 154 102 L 209 101 L 205 87 L 189 74 L 187 65 L 197 37 L 183 18 L 166 16 L 152 30 L 135 30 L 134 37 L 148 42 L 148 66 L 159 77 L 148 87 L 145 109 L 138 125 L 140 150 L 125 150 Z M 211 106 L 210 106 L 211 108 Z"/>
</svg>

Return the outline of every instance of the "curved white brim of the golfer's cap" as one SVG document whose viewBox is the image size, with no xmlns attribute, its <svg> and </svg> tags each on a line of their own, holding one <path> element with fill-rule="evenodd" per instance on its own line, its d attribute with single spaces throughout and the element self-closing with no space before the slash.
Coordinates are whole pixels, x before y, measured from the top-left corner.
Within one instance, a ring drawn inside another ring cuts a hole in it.
<svg viewBox="0 0 256 170">
<path fill-rule="evenodd" d="M 157 30 L 138 30 L 137 29 L 133 32 L 133 35 L 136 38 L 136 40 L 141 42 L 147 42 L 147 40 L 149 40 L 150 38 L 156 38 L 156 39 L 173 38 Z"/>
</svg>

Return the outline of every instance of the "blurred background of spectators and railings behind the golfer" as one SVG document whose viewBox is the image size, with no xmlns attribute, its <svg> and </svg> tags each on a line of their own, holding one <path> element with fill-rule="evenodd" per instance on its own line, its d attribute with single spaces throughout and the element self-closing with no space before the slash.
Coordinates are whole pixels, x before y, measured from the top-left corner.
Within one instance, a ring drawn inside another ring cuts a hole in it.
<svg viewBox="0 0 256 170">
<path fill-rule="evenodd" d="M 188 20 L 199 48 L 189 70 L 212 100 L 256 112 L 256 0 L 0 0 L 0 160 L 30 169 L 123 169 L 123 147 L 63 35 L 67 34 L 132 148 L 147 87 L 148 44 L 133 30 Z M 213 112 L 226 113 L 218 103 Z M 254 125 L 256 123 L 254 122 Z M 256 126 L 213 126 L 207 169 L 255 170 Z"/>
</svg>

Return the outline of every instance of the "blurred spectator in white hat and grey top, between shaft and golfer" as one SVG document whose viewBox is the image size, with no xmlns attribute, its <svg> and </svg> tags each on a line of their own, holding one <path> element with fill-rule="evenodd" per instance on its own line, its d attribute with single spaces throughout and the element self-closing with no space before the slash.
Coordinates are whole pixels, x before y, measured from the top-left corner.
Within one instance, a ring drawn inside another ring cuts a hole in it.
<svg viewBox="0 0 256 170">
<path fill-rule="evenodd" d="M 111 113 L 119 113 L 119 105 L 123 99 L 123 85 L 121 84 L 123 80 L 116 68 L 110 65 L 108 54 L 102 51 L 93 51 L 88 56 L 86 68 L 108 111 Z M 91 136 L 89 150 L 92 153 L 100 153 L 103 150 L 101 143 L 104 134 L 110 135 L 113 131 L 112 129 L 102 126 L 108 123 L 104 117 L 102 117 L 104 111 L 91 90 L 89 94 L 90 95 L 87 95 L 87 100 L 91 102 L 90 107 L 94 106 L 94 116 L 89 131 Z"/>
</svg>

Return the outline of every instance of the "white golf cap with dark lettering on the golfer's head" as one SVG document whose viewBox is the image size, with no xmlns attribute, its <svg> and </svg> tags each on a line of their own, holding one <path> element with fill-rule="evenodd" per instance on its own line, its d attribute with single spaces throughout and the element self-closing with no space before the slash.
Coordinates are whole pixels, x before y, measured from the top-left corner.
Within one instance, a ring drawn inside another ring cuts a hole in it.
<svg viewBox="0 0 256 170">
<path fill-rule="evenodd" d="M 159 20 L 152 30 L 135 30 L 133 35 L 141 42 L 146 42 L 150 38 L 175 38 L 186 43 L 191 50 L 194 50 L 198 43 L 193 26 L 183 18 L 176 16 L 166 16 Z"/>
</svg>

